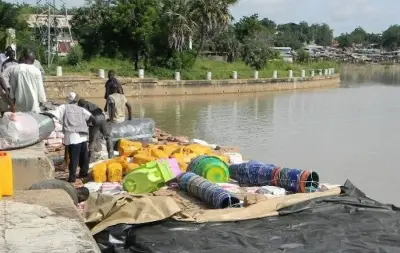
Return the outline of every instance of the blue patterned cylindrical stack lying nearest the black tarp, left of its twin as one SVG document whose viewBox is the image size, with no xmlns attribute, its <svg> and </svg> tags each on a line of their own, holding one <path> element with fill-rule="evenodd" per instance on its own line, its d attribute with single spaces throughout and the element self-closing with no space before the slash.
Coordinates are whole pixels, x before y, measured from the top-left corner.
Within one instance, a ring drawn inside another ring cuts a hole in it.
<svg viewBox="0 0 400 253">
<path fill-rule="evenodd" d="M 217 209 L 240 207 L 240 200 L 233 193 L 192 172 L 178 177 L 181 190 Z"/>
</svg>

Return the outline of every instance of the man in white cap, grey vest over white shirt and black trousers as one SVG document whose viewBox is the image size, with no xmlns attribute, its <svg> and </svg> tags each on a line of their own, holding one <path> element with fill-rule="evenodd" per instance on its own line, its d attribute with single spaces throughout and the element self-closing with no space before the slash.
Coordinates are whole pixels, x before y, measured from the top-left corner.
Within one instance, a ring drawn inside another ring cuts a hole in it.
<svg viewBox="0 0 400 253">
<path fill-rule="evenodd" d="M 69 178 L 68 182 L 76 181 L 76 169 L 79 164 L 79 178 L 85 178 L 89 171 L 89 152 L 88 121 L 92 120 L 92 114 L 86 109 L 77 105 L 78 96 L 75 92 L 68 95 L 68 104 L 60 105 L 48 114 L 55 116 L 60 120 L 63 126 L 64 145 L 68 154 Z"/>
</svg>

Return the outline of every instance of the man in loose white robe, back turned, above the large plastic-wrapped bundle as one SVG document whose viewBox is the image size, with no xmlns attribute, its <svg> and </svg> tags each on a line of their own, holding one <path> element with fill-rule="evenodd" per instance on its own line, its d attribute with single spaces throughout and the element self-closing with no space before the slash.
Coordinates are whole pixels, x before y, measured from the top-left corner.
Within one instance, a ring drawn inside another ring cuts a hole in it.
<svg viewBox="0 0 400 253">
<path fill-rule="evenodd" d="M 25 51 L 23 63 L 10 70 L 10 97 L 17 111 L 40 112 L 40 104 L 46 102 L 42 74 L 33 66 L 35 56 Z"/>
</svg>

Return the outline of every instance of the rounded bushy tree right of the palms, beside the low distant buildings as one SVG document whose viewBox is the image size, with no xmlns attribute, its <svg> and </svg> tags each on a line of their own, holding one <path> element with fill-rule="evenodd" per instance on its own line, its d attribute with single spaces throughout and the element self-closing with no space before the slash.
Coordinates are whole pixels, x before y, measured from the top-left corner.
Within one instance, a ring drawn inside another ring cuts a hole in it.
<svg viewBox="0 0 400 253">
<path fill-rule="evenodd" d="M 246 39 L 243 50 L 246 65 L 259 71 L 267 66 L 268 60 L 278 58 L 278 53 L 272 49 L 272 43 L 272 38 L 265 33 Z"/>
</svg>

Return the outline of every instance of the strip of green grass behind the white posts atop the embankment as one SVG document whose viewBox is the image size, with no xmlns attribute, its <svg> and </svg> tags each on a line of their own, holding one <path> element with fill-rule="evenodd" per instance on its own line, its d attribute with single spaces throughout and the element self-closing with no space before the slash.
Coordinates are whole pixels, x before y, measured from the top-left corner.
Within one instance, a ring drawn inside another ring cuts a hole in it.
<svg viewBox="0 0 400 253">
<path fill-rule="evenodd" d="M 64 75 L 97 75 L 99 69 L 113 69 L 121 77 L 138 77 L 137 71 L 133 69 L 133 63 L 126 60 L 96 58 L 91 61 L 84 61 L 76 66 L 69 66 L 64 61 L 57 65 L 63 67 Z M 46 69 L 48 75 L 56 74 L 56 66 Z M 278 71 L 278 77 L 287 77 L 288 71 L 293 70 L 295 77 L 301 75 L 301 70 L 306 70 L 306 75 L 310 75 L 310 70 L 335 68 L 338 72 L 339 63 L 332 61 L 313 62 L 310 64 L 293 64 L 284 61 L 271 61 L 266 69 L 259 71 L 259 78 L 271 78 L 273 71 Z M 199 58 L 190 70 L 181 70 L 182 80 L 204 80 L 207 72 L 212 72 L 213 79 L 232 79 L 233 71 L 238 72 L 239 79 L 251 79 L 254 77 L 254 70 L 241 61 L 228 63 L 209 58 Z M 174 79 L 175 71 L 166 68 L 149 68 L 145 70 L 145 77 L 158 79 Z M 317 74 L 317 72 L 316 72 Z"/>
</svg>

